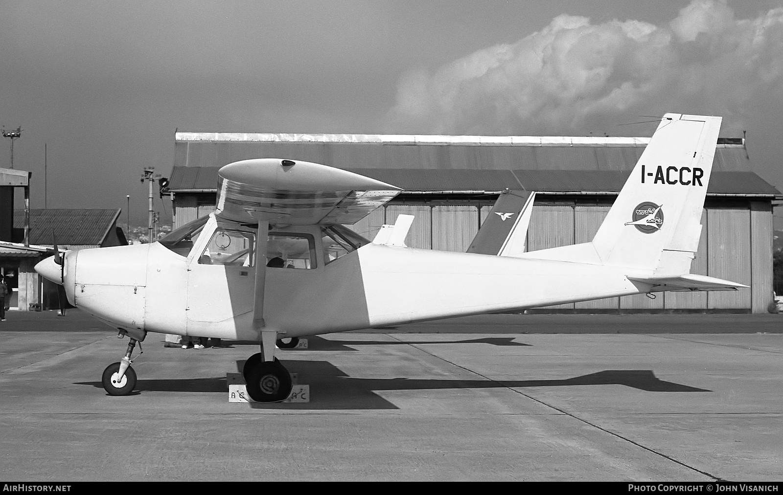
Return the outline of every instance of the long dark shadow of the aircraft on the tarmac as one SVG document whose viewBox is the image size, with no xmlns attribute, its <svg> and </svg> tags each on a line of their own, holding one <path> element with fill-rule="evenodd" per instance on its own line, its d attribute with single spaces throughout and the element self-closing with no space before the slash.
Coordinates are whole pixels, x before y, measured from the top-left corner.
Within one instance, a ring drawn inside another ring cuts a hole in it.
<svg viewBox="0 0 783 495">
<path fill-rule="evenodd" d="M 241 370 L 244 361 L 236 362 Z M 287 361 L 299 383 L 310 385 L 309 403 L 250 403 L 255 409 L 285 410 L 386 410 L 399 409 L 377 392 L 394 390 L 459 390 L 467 388 L 532 388 L 576 385 L 624 385 L 645 392 L 711 392 L 655 377 L 651 370 L 604 370 L 562 380 L 443 380 L 439 378 L 354 378 L 327 361 Z M 99 381 L 80 382 L 103 388 Z M 226 394 L 225 377 L 139 380 L 133 395 L 143 392 L 215 392 Z M 240 404 L 237 405 L 241 407 Z"/>
</svg>

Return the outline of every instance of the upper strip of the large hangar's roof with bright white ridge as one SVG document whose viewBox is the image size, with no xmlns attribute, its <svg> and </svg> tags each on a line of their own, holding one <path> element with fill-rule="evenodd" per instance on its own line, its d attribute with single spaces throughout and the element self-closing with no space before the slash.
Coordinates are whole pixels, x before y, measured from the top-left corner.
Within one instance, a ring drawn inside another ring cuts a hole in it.
<svg viewBox="0 0 783 495">
<path fill-rule="evenodd" d="M 630 170 L 650 138 L 585 136 L 252 134 L 177 132 L 175 167 L 258 157 L 337 168 Z M 714 170 L 747 171 L 742 138 L 719 138 Z"/>
</svg>

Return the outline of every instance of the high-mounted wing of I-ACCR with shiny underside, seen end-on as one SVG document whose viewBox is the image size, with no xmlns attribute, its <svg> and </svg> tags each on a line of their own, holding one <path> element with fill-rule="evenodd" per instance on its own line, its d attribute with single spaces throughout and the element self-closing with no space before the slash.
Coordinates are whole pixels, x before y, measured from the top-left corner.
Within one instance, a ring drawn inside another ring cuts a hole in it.
<svg viewBox="0 0 783 495">
<path fill-rule="evenodd" d="M 218 171 L 215 214 L 236 222 L 353 224 L 395 197 L 400 188 L 309 161 L 260 158 Z"/>
</svg>

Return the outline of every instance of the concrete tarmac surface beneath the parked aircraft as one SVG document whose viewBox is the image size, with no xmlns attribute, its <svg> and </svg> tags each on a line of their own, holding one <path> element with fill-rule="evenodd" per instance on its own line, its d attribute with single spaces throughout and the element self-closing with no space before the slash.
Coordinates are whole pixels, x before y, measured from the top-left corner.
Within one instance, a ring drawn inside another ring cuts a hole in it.
<svg viewBox="0 0 783 495">
<path fill-rule="evenodd" d="M 781 481 L 783 315 L 489 315 L 309 339 L 302 404 L 229 403 L 258 345 L 127 339 L 77 310 L 0 323 L 0 478 Z"/>
</svg>

